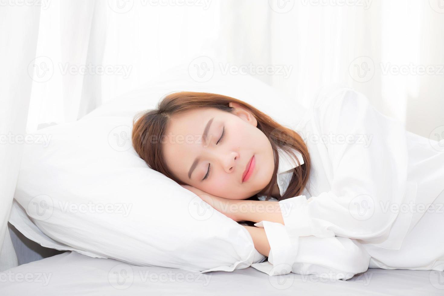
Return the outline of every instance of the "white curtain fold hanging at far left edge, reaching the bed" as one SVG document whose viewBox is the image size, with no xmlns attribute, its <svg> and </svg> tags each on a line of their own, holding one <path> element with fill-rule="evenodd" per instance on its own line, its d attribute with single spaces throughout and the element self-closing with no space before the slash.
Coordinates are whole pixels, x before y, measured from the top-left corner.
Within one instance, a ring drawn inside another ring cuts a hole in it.
<svg viewBox="0 0 444 296">
<path fill-rule="evenodd" d="M 26 140 L 26 122 L 39 20 L 38 5 L 10 2 L 0 9 L 0 271 L 17 265 L 7 229 L 23 145 L 33 140 Z"/>
</svg>

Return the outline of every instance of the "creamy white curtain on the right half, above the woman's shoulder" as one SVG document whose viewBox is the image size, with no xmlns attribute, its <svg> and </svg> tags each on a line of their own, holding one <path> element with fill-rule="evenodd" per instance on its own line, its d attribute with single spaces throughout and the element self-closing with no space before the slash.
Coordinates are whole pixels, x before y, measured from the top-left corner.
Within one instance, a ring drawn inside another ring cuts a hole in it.
<svg viewBox="0 0 444 296">
<path fill-rule="evenodd" d="M 429 137 L 444 125 L 444 1 L 264 2 L 224 1 L 230 63 L 293 67 L 289 77 L 257 77 L 305 106 L 321 86 L 337 83 L 416 134 Z M 416 71 L 427 66 L 429 74 Z"/>
</svg>

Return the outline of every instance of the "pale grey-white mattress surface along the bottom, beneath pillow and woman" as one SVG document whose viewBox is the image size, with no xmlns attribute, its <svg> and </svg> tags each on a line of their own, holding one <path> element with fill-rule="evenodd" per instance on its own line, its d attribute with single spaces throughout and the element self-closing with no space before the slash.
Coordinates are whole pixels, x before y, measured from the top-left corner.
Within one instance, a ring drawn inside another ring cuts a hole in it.
<svg viewBox="0 0 444 296">
<path fill-rule="evenodd" d="M 67 251 L 0 273 L 1 295 L 444 295 L 442 272 L 371 268 L 349 280 L 290 273 L 268 276 L 249 267 L 195 273 L 140 267 Z"/>
</svg>

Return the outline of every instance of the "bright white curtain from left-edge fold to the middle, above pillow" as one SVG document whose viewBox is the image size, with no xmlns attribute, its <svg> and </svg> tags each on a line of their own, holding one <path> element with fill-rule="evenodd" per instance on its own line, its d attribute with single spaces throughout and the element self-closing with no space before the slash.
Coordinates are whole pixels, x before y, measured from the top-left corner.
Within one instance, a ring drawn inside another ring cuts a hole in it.
<svg viewBox="0 0 444 296">
<path fill-rule="evenodd" d="M 75 121 L 213 47 L 218 4 L 155 3 L 63 0 L 42 8 L 28 131 Z"/>
</svg>

